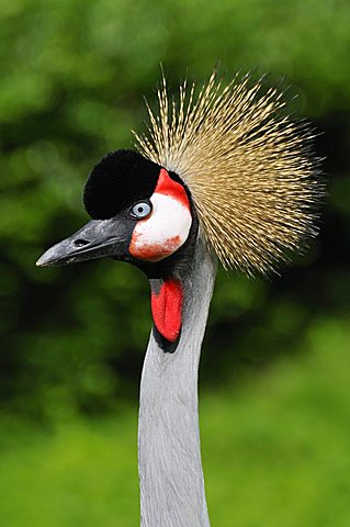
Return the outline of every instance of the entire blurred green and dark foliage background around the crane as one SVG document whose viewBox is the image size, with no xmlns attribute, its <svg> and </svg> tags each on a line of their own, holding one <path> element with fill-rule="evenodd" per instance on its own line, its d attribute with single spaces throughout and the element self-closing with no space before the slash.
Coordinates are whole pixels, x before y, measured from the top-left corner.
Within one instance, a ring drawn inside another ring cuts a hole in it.
<svg viewBox="0 0 350 527">
<path fill-rule="evenodd" d="M 281 277 L 218 276 L 201 365 L 212 523 L 348 527 L 350 2 L 0 0 L 0 526 L 138 523 L 147 281 L 34 262 L 87 221 L 87 175 L 144 130 L 159 64 L 177 87 L 219 60 L 292 85 L 329 197 Z"/>
</svg>

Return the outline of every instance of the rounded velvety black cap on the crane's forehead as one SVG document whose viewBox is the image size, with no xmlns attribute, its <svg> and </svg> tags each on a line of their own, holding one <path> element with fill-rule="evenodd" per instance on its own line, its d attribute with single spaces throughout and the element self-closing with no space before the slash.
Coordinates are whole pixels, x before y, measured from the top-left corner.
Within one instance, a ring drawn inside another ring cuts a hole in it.
<svg viewBox="0 0 350 527">
<path fill-rule="evenodd" d="M 83 191 L 83 204 L 93 220 L 115 216 L 154 193 L 160 166 L 133 150 L 108 154 L 92 169 Z"/>
</svg>

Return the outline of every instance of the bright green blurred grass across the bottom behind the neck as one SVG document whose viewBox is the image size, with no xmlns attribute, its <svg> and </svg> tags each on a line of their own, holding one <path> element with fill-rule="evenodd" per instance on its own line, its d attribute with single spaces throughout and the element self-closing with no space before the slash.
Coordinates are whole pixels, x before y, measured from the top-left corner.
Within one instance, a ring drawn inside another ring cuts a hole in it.
<svg viewBox="0 0 350 527">
<path fill-rule="evenodd" d="M 300 360 L 280 357 L 244 386 L 202 394 L 212 525 L 349 526 L 349 339 L 348 321 L 320 318 L 300 339 Z M 2 417 L 1 525 L 137 525 L 136 415 L 39 431 Z"/>
</svg>

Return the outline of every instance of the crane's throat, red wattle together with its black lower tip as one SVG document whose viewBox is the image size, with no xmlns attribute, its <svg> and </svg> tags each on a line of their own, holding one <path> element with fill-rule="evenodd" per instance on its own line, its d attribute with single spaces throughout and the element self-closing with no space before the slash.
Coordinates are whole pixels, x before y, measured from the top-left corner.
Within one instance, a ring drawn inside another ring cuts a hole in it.
<svg viewBox="0 0 350 527">
<path fill-rule="evenodd" d="M 181 334 L 183 287 L 176 278 L 150 280 L 154 333 L 165 351 L 174 351 Z"/>
</svg>

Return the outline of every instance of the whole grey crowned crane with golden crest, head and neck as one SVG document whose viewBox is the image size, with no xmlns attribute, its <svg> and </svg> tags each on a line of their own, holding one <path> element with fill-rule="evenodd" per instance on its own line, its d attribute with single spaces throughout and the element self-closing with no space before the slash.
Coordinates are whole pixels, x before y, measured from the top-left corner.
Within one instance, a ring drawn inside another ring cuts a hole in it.
<svg viewBox="0 0 350 527">
<path fill-rule="evenodd" d="M 109 257 L 149 279 L 153 329 L 140 382 L 138 471 L 143 527 L 210 525 L 197 414 L 197 369 L 216 273 L 269 273 L 317 233 L 323 195 L 312 132 L 283 115 L 276 89 L 216 74 L 183 82 L 137 152 L 104 157 L 87 181 L 91 221 L 37 266 Z"/>
</svg>

